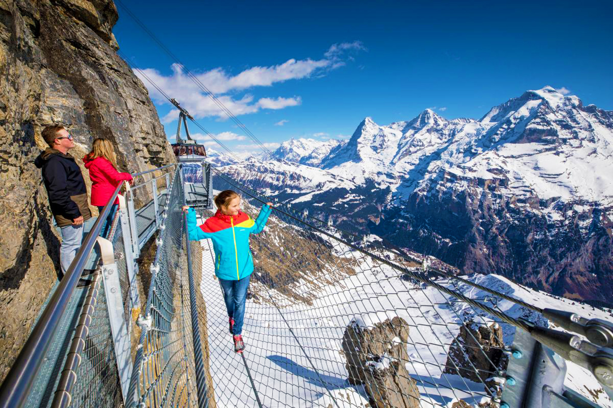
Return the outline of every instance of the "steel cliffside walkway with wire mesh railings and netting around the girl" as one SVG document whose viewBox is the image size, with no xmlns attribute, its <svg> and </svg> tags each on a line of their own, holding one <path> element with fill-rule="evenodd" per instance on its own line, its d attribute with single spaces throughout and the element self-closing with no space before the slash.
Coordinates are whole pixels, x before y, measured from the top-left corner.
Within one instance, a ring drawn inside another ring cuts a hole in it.
<svg viewBox="0 0 613 408">
<path fill-rule="evenodd" d="M 536 306 L 281 203 L 251 239 L 247 348 L 236 354 L 212 245 L 186 237 L 181 206 L 194 187 L 182 166 L 117 188 L 99 216 L 120 197 L 109 236 L 96 221 L 4 380 L 1 407 L 597 406 L 563 386 L 566 361 L 612 394 L 603 311 Z M 239 191 L 253 216 L 270 201 L 208 171 L 200 222 L 215 190 Z M 93 283 L 76 288 L 92 253 Z"/>
</svg>

